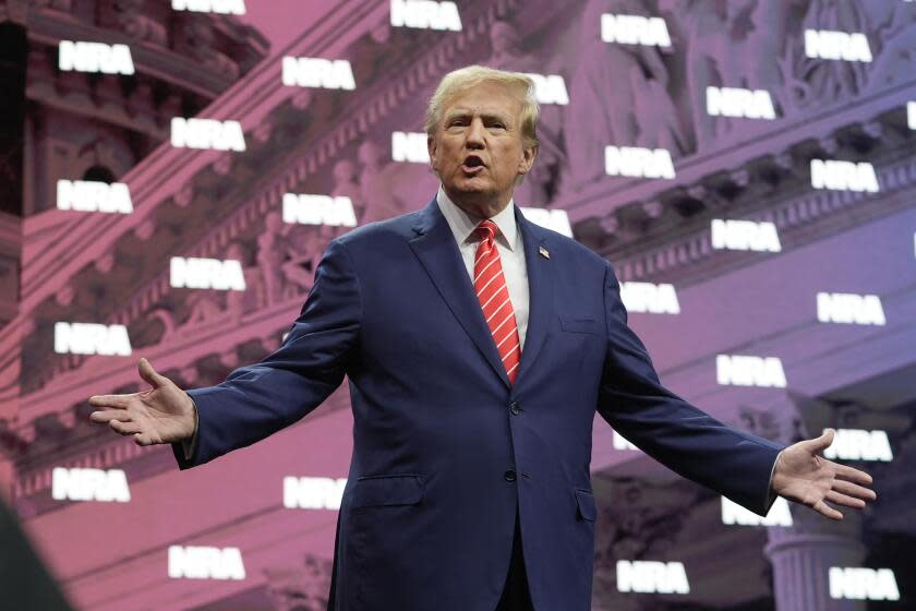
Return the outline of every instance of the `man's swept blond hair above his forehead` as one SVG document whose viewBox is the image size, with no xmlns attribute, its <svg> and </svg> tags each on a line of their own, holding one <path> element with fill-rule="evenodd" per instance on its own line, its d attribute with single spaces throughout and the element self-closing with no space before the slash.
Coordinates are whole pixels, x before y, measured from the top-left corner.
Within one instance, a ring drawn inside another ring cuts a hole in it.
<svg viewBox="0 0 916 611">
<path fill-rule="evenodd" d="M 438 87 L 430 98 L 430 104 L 426 105 L 426 118 L 423 123 L 426 135 L 430 137 L 435 135 L 435 131 L 442 122 L 442 112 L 446 103 L 460 92 L 481 83 L 498 83 L 521 94 L 519 96 L 521 103 L 519 122 L 521 124 L 522 146 L 525 148 L 532 146 L 537 148 L 539 145 L 538 117 L 541 115 L 541 108 L 534 97 L 534 82 L 521 72 L 494 70 L 483 65 L 466 65 L 443 76 Z"/>
</svg>

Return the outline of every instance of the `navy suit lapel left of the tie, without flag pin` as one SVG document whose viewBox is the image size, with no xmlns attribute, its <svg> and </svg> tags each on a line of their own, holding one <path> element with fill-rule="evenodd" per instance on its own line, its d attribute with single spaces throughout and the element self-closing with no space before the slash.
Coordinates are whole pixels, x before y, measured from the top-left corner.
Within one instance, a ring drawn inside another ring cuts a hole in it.
<svg viewBox="0 0 916 611">
<path fill-rule="evenodd" d="M 455 236 L 435 199 L 420 211 L 414 231 L 418 236 L 409 243 L 417 259 L 420 260 L 445 303 L 458 319 L 480 354 L 503 383 L 509 386 L 506 368 L 503 367 L 503 361 L 490 334 L 490 327 L 486 326 L 486 320 L 483 318 L 483 310 L 478 302 L 468 269 L 461 259 L 458 244 L 455 243 Z M 527 253 L 526 257 L 528 257 Z M 521 358 L 523 362 L 523 351 Z"/>
</svg>

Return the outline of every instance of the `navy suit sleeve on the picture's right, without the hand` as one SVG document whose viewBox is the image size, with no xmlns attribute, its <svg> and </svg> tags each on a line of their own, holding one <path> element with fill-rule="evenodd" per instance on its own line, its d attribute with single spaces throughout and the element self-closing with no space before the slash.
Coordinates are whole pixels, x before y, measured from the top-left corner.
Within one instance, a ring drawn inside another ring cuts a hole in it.
<svg viewBox="0 0 916 611">
<path fill-rule="evenodd" d="M 617 432 L 679 475 L 766 515 L 782 446 L 726 427 L 665 388 L 627 312 L 611 265 L 604 279 L 607 351 L 598 411 Z"/>
</svg>

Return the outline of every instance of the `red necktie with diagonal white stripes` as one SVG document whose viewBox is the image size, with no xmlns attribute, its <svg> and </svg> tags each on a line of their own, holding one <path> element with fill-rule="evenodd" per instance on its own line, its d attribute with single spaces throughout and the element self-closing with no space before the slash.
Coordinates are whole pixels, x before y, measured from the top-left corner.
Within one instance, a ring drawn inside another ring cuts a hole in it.
<svg viewBox="0 0 916 611">
<path fill-rule="evenodd" d="M 498 232 L 499 227 L 490 219 L 481 220 L 477 227 L 481 242 L 474 256 L 474 292 L 477 292 L 480 307 L 483 308 L 483 318 L 490 326 L 490 333 L 493 342 L 496 343 L 496 350 L 503 359 L 509 382 L 515 383 L 518 361 L 521 358 L 521 346 L 518 339 L 515 310 L 509 299 L 509 287 L 506 286 L 503 263 L 499 261 L 499 251 L 496 249 L 495 238 Z"/>
</svg>

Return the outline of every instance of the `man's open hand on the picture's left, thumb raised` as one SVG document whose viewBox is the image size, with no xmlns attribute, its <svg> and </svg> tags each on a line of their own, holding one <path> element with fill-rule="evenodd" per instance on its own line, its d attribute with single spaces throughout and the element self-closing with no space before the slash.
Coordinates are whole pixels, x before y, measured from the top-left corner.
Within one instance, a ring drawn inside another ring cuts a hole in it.
<svg viewBox="0 0 916 611">
<path fill-rule="evenodd" d="M 105 409 L 93 411 L 89 419 L 107 422 L 122 435 L 133 435 L 137 445 L 190 440 L 194 435 L 196 414 L 188 393 L 156 373 L 146 359 L 140 359 L 137 371 L 153 387 L 130 395 L 92 396 L 89 405 Z"/>
</svg>

